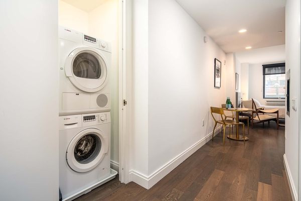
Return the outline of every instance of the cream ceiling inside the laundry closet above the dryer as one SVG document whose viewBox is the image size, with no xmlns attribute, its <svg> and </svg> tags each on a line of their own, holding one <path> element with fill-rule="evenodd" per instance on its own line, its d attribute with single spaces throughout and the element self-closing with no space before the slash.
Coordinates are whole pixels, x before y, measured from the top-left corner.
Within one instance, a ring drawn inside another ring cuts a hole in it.
<svg viewBox="0 0 301 201">
<path fill-rule="evenodd" d="M 107 0 L 62 0 L 67 4 L 70 4 L 85 12 L 90 12 L 102 5 Z"/>
</svg>

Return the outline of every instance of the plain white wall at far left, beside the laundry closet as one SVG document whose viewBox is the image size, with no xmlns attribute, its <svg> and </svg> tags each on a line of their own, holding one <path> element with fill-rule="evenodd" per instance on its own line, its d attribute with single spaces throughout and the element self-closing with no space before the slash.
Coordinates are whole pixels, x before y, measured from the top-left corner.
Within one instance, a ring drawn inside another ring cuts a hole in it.
<svg viewBox="0 0 301 201">
<path fill-rule="evenodd" d="M 0 1 L 1 200 L 58 200 L 58 2 Z"/>
</svg>

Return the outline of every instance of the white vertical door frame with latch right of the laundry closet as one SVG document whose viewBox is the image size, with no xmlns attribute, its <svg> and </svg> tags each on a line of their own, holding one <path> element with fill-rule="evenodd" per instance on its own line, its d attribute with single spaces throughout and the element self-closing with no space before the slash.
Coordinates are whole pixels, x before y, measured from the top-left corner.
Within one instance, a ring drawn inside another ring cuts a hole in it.
<svg viewBox="0 0 301 201">
<path fill-rule="evenodd" d="M 119 180 L 128 183 L 131 131 L 131 0 L 119 0 Z"/>
</svg>

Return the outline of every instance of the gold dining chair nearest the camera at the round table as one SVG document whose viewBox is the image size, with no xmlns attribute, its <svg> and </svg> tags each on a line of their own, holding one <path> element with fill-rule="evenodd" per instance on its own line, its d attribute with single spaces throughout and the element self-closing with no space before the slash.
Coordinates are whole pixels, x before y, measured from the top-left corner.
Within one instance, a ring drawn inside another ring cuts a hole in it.
<svg viewBox="0 0 301 201">
<path fill-rule="evenodd" d="M 215 121 L 215 125 L 213 128 L 213 132 L 212 132 L 212 140 L 214 137 L 214 130 L 216 128 L 217 124 L 222 124 L 223 125 L 223 144 L 225 145 L 225 132 L 226 132 L 226 127 L 229 126 L 230 127 L 230 135 L 231 135 L 231 126 L 233 125 L 242 125 L 242 129 L 243 129 L 243 143 L 245 143 L 245 130 L 244 130 L 244 123 L 242 122 L 238 122 L 236 123 L 236 121 L 233 120 L 226 120 L 225 114 L 224 114 L 224 110 L 223 108 L 215 108 L 215 107 L 210 107 L 210 111 L 211 111 L 211 115 L 213 120 Z M 213 114 L 218 114 L 221 116 L 221 120 L 216 120 Z"/>
</svg>

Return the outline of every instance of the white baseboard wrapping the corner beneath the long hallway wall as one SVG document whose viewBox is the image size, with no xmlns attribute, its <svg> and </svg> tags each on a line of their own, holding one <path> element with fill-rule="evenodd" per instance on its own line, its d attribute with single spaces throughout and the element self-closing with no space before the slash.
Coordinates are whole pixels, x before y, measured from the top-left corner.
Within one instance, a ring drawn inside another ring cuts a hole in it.
<svg viewBox="0 0 301 201">
<path fill-rule="evenodd" d="M 222 126 L 219 126 L 215 130 L 214 136 L 216 136 Z M 211 140 L 212 132 L 209 133 L 206 137 L 186 149 L 184 152 L 176 156 L 174 159 L 166 163 L 164 166 L 162 166 L 160 169 L 158 169 L 156 172 L 151 174 L 150 176 L 146 176 L 144 174 L 141 174 L 135 170 L 129 171 L 129 180 L 137 183 L 138 185 L 149 189 L 153 185 L 155 185 L 158 181 L 160 181 L 163 177 L 165 177 L 168 173 L 170 173 L 172 170 L 174 170 L 178 165 L 180 165 L 183 161 L 185 161 L 189 156 L 191 156 L 194 152 L 196 152 L 198 149 L 200 149 L 203 145 L 205 145 L 207 142 Z"/>
</svg>

